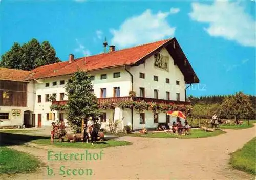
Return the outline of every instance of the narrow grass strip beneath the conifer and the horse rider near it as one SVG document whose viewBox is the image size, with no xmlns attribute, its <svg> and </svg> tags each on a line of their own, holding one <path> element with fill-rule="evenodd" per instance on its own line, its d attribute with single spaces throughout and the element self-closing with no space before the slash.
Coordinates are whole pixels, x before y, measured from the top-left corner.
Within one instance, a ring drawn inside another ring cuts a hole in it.
<svg viewBox="0 0 256 180">
<path fill-rule="evenodd" d="M 131 142 L 127 142 L 127 141 L 115 141 L 115 140 L 97 142 L 97 143 L 94 143 L 94 145 L 92 145 L 90 142 L 88 144 L 82 143 L 82 142 L 68 143 L 68 142 L 58 142 L 57 139 L 54 141 L 55 142 L 53 144 L 50 143 L 49 139 L 37 139 L 37 140 L 32 140 L 31 142 L 37 143 L 37 144 L 52 145 L 57 147 L 65 147 L 65 148 L 89 148 L 89 149 L 125 146 L 125 145 L 132 144 Z"/>
</svg>

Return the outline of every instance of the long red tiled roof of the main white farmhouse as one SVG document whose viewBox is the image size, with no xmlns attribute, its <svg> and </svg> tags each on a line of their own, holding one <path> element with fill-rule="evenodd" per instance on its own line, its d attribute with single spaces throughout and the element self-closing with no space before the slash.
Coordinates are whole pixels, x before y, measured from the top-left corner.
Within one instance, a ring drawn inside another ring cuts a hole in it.
<svg viewBox="0 0 256 180">
<path fill-rule="evenodd" d="M 72 63 L 68 61 L 40 66 L 32 70 L 32 75 L 28 79 L 39 79 L 68 75 L 79 70 L 92 71 L 97 69 L 112 68 L 115 66 L 132 65 L 141 58 L 150 54 L 154 50 L 163 46 L 170 39 L 143 44 L 140 46 L 127 48 L 119 51 L 98 54 L 89 57 L 75 59 Z"/>
</svg>

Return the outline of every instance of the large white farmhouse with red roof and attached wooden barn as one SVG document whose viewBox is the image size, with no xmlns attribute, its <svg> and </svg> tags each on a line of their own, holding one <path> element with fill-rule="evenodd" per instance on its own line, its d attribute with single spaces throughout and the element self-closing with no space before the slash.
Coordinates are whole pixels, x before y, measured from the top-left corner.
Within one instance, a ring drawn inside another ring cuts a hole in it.
<svg viewBox="0 0 256 180">
<path fill-rule="evenodd" d="M 108 45 L 103 43 L 104 48 Z M 51 111 L 51 105 L 65 105 L 68 97 L 63 88 L 77 70 L 91 74 L 93 93 L 99 103 L 144 101 L 188 105 L 186 84 L 199 83 L 176 38 L 132 48 L 40 66 L 32 71 L 0 68 L 0 127 L 25 125 L 50 126 L 66 120 L 65 111 Z M 133 91 L 135 96 L 130 96 Z M 50 101 L 50 96 L 54 97 Z M 155 128 L 169 121 L 165 112 L 135 111 L 134 108 L 100 109 L 101 121 L 121 120 L 120 128 Z"/>
</svg>

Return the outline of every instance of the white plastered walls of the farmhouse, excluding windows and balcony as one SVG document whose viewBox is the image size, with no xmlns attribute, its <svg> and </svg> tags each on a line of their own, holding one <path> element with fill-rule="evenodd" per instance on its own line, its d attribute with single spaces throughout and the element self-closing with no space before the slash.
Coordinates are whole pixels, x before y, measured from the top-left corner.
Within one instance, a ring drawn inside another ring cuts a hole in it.
<svg viewBox="0 0 256 180">
<path fill-rule="evenodd" d="M 145 89 L 145 98 L 154 98 L 154 89 L 158 90 L 158 99 L 166 99 L 166 92 L 169 92 L 169 100 L 177 99 L 177 93 L 180 94 L 180 101 L 185 101 L 185 81 L 184 75 L 181 73 L 180 69 L 177 65 L 174 65 L 173 58 L 169 55 L 166 49 L 161 50 L 161 54 L 164 56 L 168 56 L 169 60 L 168 71 L 157 68 L 155 63 L 154 56 L 146 59 L 143 64 L 139 66 L 131 66 L 126 67 L 127 70 L 133 75 L 133 90 L 136 92 L 136 96 L 140 96 L 140 88 L 143 87 Z M 120 77 L 114 78 L 113 74 L 116 72 L 120 72 Z M 125 70 L 125 66 L 121 68 L 111 68 L 105 70 L 98 70 L 89 72 L 92 76 L 94 76 L 94 80 L 92 81 L 94 86 L 94 93 L 97 98 L 101 98 L 101 89 L 106 88 L 106 98 L 114 97 L 113 88 L 120 87 L 120 97 L 129 96 L 129 91 L 132 90 L 132 78 L 131 75 Z M 140 73 L 145 74 L 145 78 L 140 78 Z M 101 75 L 106 74 L 106 79 L 101 79 Z M 154 81 L 154 76 L 158 76 L 158 81 Z M 38 114 L 41 114 L 41 126 L 50 126 L 52 122 L 59 120 L 60 113 L 65 112 L 52 112 L 50 110 L 51 103 L 46 102 L 46 95 L 56 94 L 56 100 L 59 101 L 60 93 L 65 93 L 65 84 L 70 79 L 69 76 L 58 76 L 44 79 L 33 80 L 28 85 L 28 107 L 22 107 L 22 111 L 30 110 L 33 114 L 35 114 L 35 126 L 38 127 Z M 166 83 L 166 78 L 169 79 L 169 83 Z M 65 81 L 65 84 L 60 85 L 60 81 Z M 179 81 L 179 85 L 176 85 L 176 81 Z M 53 85 L 53 82 L 56 82 L 56 85 Z M 46 83 L 49 83 L 49 86 L 46 86 Z M 41 101 L 38 101 L 38 96 L 40 96 Z M 68 100 L 68 97 L 64 96 L 63 100 Z M 10 110 L 14 107 L 1 107 L 2 110 Z M 106 113 L 107 119 L 114 120 L 120 119 L 122 123 L 120 128 L 122 129 L 125 125 L 132 125 L 133 118 L 133 129 L 141 129 L 142 127 L 146 128 L 155 128 L 157 127 L 157 123 L 154 123 L 153 113 L 152 111 L 145 111 L 145 124 L 140 124 L 140 116 L 136 111 L 132 111 L 131 109 L 124 109 L 120 112 L 120 116 L 115 114 L 113 110 L 102 110 L 101 112 Z M 55 114 L 55 120 L 54 115 Z M 23 114 L 23 113 L 22 113 Z M 51 116 L 47 114 L 52 114 Z M 32 114 L 30 115 L 32 119 Z M 114 117 L 115 116 L 115 117 Z M 133 117 L 132 117 L 133 116 Z M 158 122 L 165 122 L 165 113 L 160 113 L 158 115 Z M 66 116 L 64 115 L 64 120 L 66 120 Z M 11 120 L 9 122 L 2 122 L 0 125 L 21 125 L 23 124 L 23 116 L 20 119 Z M 102 127 L 105 127 L 106 123 L 103 123 Z"/>
</svg>

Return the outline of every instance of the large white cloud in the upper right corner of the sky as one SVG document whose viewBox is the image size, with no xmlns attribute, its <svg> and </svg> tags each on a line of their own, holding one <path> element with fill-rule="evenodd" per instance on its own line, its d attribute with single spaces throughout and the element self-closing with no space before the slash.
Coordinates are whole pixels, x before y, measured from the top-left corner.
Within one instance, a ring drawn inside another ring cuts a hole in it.
<svg viewBox="0 0 256 180">
<path fill-rule="evenodd" d="M 215 1 L 211 5 L 192 3 L 191 19 L 208 23 L 204 28 L 210 36 L 237 41 L 242 46 L 255 47 L 256 22 L 239 2 Z"/>
</svg>

